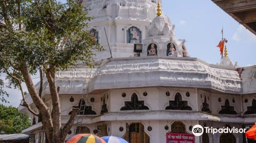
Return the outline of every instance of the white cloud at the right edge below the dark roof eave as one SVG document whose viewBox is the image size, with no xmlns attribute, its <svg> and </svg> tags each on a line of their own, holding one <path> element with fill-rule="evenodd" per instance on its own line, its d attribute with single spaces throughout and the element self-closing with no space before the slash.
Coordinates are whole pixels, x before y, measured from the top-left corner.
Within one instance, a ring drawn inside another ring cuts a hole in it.
<svg viewBox="0 0 256 143">
<path fill-rule="evenodd" d="M 237 31 L 233 34 L 232 40 L 238 42 L 252 42 L 256 41 L 256 36 L 247 30 L 244 26 L 240 25 Z"/>
</svg>

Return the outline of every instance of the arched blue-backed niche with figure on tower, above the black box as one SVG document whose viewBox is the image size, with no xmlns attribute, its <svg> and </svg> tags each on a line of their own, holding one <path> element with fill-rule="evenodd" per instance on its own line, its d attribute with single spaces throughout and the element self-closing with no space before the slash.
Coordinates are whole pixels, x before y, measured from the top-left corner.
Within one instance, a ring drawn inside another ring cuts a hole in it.
<svg viewBox="0 0 256 143">
<path fill-rule="evenodd" d="M 131 27 L 127 31 L 127 43 L 135 43 L 139 44 L 141 43 L 141 32 L 136 27 Z"/>
</svg>

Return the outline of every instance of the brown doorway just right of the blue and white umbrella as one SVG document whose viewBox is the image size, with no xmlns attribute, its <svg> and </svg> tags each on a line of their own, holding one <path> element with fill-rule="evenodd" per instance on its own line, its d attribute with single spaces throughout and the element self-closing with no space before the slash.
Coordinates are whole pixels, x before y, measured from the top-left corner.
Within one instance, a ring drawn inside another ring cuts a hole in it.
<svg viewBox="0 0 256 143">
<path fill-rule="evenodd" d="M 130 143 L 150 143 L 150 136 L 146 134 L 141 123 L 126 124 L 123 138 Z"/>
</svg>

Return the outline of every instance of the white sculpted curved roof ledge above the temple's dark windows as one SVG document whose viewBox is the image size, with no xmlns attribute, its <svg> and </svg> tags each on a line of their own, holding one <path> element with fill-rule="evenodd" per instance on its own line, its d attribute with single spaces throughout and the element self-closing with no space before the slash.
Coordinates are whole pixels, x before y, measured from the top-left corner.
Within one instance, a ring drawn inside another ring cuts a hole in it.
<svg viewBox="0 0 256 143">
<path fill-rule="evenodd" d="M 211 88 L 242 93 L 236 68 L 205 63 L 197 58 L 115 58 L 101 65 L 90 82 L 90 92 L 102 89 L 174 86 Z"/>
</svg>

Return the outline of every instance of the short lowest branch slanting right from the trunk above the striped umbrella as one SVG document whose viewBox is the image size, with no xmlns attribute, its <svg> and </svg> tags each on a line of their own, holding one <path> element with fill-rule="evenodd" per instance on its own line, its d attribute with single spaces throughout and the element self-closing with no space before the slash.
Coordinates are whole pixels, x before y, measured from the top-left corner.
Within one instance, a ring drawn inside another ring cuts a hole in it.
<svg viewBox="0 0 256 143">
<path fill-rule="evenodd" d="M 79 108 L 73 108 L 72 109 L 72 113 L 70 115 L 69 121 L 66 123 L 66 125 L 61 130 L 61 138 L 63 140 L 65 140 L 68 131 L 72 127 L 72 125 L 73 125 L 73 123 L 75 121 L 75 117 L 76 117 L 78 112 L 79 112 Z"/>
</svg>

